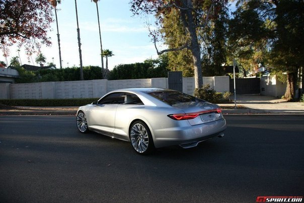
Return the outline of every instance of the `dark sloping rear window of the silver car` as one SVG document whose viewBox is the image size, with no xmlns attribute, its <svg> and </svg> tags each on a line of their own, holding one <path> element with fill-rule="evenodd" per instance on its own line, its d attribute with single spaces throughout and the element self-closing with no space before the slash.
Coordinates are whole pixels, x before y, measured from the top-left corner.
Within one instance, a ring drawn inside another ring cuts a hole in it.
<svg viewBox="0 0 304 203">
<path fill-rule="evenodd" d="M 159 92 L 149 92 L 148 94 L 171 106 L 179 103 L 204 101 L 178 91 L 159 91 Z"/>
</svg>

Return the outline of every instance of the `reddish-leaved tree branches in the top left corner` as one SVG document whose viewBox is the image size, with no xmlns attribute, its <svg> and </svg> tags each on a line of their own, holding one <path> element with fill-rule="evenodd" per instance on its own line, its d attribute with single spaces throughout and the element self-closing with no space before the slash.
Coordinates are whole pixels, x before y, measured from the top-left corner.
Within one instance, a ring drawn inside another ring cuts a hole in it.
<svg viewBox="0 0 304 203">
<path fill-rule="evenodd" d="M 47 31 L 53 22 L 48 0 L 0 1 L 0 49 L 6 55 L 13 44 L 25 50 L 39 50 L 41 44 L 51 45 Z"/>
</svg>

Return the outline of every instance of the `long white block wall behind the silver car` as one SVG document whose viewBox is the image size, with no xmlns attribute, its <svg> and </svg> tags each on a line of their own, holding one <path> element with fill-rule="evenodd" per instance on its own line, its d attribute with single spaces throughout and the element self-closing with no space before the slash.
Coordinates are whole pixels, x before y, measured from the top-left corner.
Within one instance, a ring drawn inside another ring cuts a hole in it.
<svg viewBox="0 0 304 203">
<path fill-rule="evenodd" d="M 217 92 L 229 91 L 229 77 L 203 77 Z M 135 80 L 92 80 L 68 82 L 44 82 L 24 84 L 0 84 L 0 99 L 64 99 L 99 98 L 105 93 L 123 88 L 168 88 L 167 78 Z M 193 95 L 194 78 L 183 78 L 183 92 Z"/>
</svg>

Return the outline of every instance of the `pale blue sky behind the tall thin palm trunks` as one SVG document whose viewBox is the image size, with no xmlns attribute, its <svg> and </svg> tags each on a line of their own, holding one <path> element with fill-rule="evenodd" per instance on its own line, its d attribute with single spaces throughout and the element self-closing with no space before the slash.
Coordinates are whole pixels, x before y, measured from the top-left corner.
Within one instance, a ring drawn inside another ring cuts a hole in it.
<svg viewBox="0 0 304 203">
<path fill-rule="evenodd" d="M 78 0 L 77 7 L 83 65 L 101 66 L 96 4 L 90 0 Z M 114 56 L 109 58 L 110 70 L 118 64 L 142 62 L 147 58 L 158 57 L 154 44 L 148 36 L 148 29 L 145 26 L 147 17 L 132 17 L 128 0 L 102 0 L 98 2 L 98 7 L 103 49 L 109 49 L 114 54 Z M 79 66 L 80 59 L 74 1 L 63 0 L 57 8 L 60 9 L 57 12 L 57 16 L 61 57 L 63 60 L 62 66 Z M 148 21 L 154 22 L 154 19 L 151 18 Z M 49 32 L 48 35 L 52 39 L 52 46 L 42 46 L 41 52 L 46 56 L 47 62 L 54 61 L 56 66 L 60 67 L 55 22 L 51 26 L 53 31 Z M 8 61 L 10 61 L 11 57 L 18 56 L 16 47 L 12 47 L 10 51 Z M 28 57 L 24 52 L 24 47 L 22 47 L 20 49 L 22 63 L 28 64 Z M 36 54 L 32 57 L 35 63 Z M 0 60 L 5 61 L 4 56 L 1 56 Z M 33 64 L 32 61 L 30 64 Z"/>
</svg>

